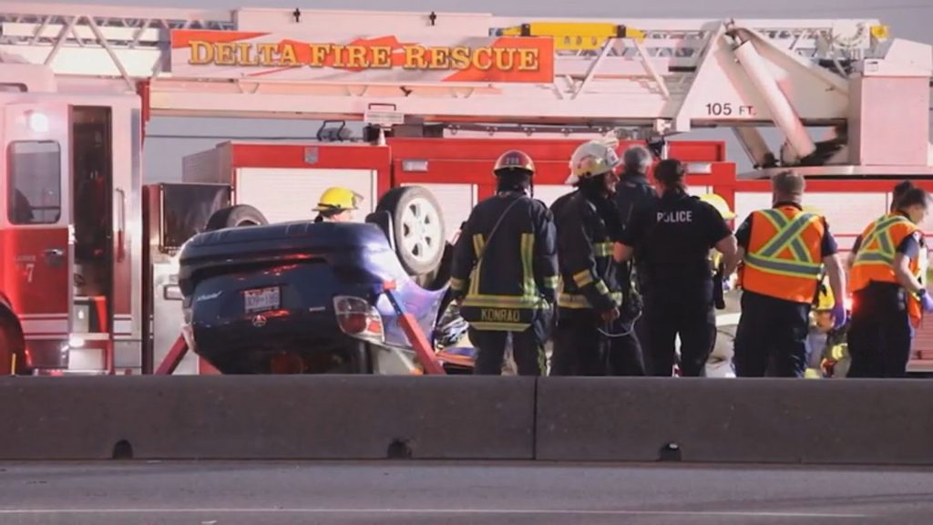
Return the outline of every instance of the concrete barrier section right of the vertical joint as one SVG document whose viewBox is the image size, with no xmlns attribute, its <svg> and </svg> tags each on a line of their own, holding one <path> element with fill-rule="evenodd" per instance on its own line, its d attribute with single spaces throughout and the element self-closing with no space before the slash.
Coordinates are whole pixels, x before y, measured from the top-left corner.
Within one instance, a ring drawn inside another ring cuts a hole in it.
<svg viewBox="0 0 933 525">
<path fill-rule="evenodd" d="M 548 377 L 536 459 L 933 463 L 933 382 Z"/>
</svg>

